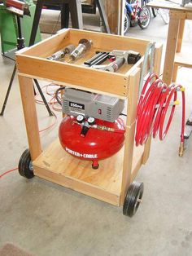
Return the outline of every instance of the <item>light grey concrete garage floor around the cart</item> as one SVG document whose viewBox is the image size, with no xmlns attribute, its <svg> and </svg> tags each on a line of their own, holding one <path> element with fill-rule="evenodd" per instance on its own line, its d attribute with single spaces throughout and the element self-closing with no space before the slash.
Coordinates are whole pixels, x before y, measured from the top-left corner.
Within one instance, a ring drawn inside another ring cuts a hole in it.
<svg viewBox="0 0 192 256">
<path fill-rule="evenodd" d="M 186 24 L 185 49 L 191 43 L 191 23 Z M 148 29 L 138 26 L 134 38 L 166 42 L 168 26 L 156 17 Z M 164 44 L 165 47 L 165 44 Z M 0 57 L 1 100 L 7 90 L 13 62 Z M 186 88 L 186 116 L 191 111 L 190 69 L 181 68 L 177 82 Z M 44 106 L 37 106 L 40 126 L 52 123 Z M 0 183 L 0 246 L 15 243 L 38 256 L 111 255 L 181 256 L 192 253 L 192 143 L 178 157 L 181 105 L 163 142 L 152 141 L 151 157 L 137 180 L 145 184 L 143 203 L 133 218 L 122 207 L 109 205 L 81 193 L 35 177 L 24 179 L 14 171 Z M 43 147 L 58 134 L 58 127 L 41 135 Z M 191 139 L 190 139 L 191 140 Z M 0 174 L 18 165 L 28 148 L 17 79 L 4 117 L 0 117 Z"/>
</svg>

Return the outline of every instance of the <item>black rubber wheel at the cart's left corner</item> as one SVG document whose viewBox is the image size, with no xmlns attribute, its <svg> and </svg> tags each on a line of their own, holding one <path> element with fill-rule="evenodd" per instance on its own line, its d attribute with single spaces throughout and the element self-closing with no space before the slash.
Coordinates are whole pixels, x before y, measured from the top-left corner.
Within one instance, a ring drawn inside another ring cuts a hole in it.
<svg viewBox="0 0 192 256">
<path fill-rule="evenodd" d="M 32 179 L 34 176 L 31 155 L 28 149 L 26 149 L 20 157 L 18 170 L 20 175 L 27 179 Z"/>
</svg>

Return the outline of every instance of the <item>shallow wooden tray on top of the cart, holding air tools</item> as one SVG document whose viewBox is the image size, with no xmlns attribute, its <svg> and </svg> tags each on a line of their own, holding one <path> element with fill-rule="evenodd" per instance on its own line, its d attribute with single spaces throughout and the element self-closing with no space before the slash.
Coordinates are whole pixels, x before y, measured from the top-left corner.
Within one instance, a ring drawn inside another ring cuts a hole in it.
<svg viewBox="0 0 192 256">
<path fill-rule="evenodd" d="M 47 60 L 46 58 L 69 44 L 75 46 L 81 38 L 91 39 L 93 46 L 85 52 L 82 58 L 74 63 L 65 61 Z M 55 36 L 24 48 L 16 54 L 16 64 L 20 75 L 35 77 L 46 81 L 56 82 L 59 85 L 70 84 L 82 90 L 104 94 L 117 95 L 121 98 L 128 96 L 129 75 L 135 67 L 141 67 L 143 55 L 149 41 L 121 37 L 106 33 L 95 33 L 77 29 L 63 29 Z M 83 65 L 95 55 L 95 51 L 137 51 L 142 59 L 137 64 L 124 64 L 116 73 L 106 72 Z"/>
</svg>

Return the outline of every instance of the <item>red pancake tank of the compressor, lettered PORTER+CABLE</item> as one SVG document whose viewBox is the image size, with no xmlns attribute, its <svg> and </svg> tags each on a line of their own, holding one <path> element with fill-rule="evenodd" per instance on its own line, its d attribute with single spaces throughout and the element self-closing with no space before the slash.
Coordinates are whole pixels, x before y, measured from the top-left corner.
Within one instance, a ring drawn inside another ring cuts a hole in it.
<svg viewBox="0 0 192 256">
<path fill-rule="evenodd" d="M 120 117 L 115 122 L 95 119 L 89 125 L 89 118 L 80 123 L 76 117 L 64 117 L 59 126 L 59 139 L 66 152 L 73 157 L 92 161 L 92 167 L 97 169 L 98 160 L 111 157 L 122 148 L 124 122 Z"/>
</svg>

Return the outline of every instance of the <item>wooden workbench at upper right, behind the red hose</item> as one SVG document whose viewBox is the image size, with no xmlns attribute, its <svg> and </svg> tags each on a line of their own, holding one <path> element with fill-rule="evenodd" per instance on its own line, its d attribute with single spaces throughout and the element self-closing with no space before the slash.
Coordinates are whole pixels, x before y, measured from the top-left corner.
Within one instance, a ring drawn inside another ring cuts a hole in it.
<svg viewBox="0 0 192 256">
<path fill-rule="evenodd" d="M 192 20 L 192 8 L 180 7 L 168 1 L 152 1 L 147 6 L 169 9 L 170 21 L 168 26 L 167 48 L 164 60 L 163 80 L 167 84 L 177 79 L 179 66 L 192 68 L 192 59 L 189 52 L 181 53 L 181 44 L 185 28 L 185 20 Z"/>
</svg>

